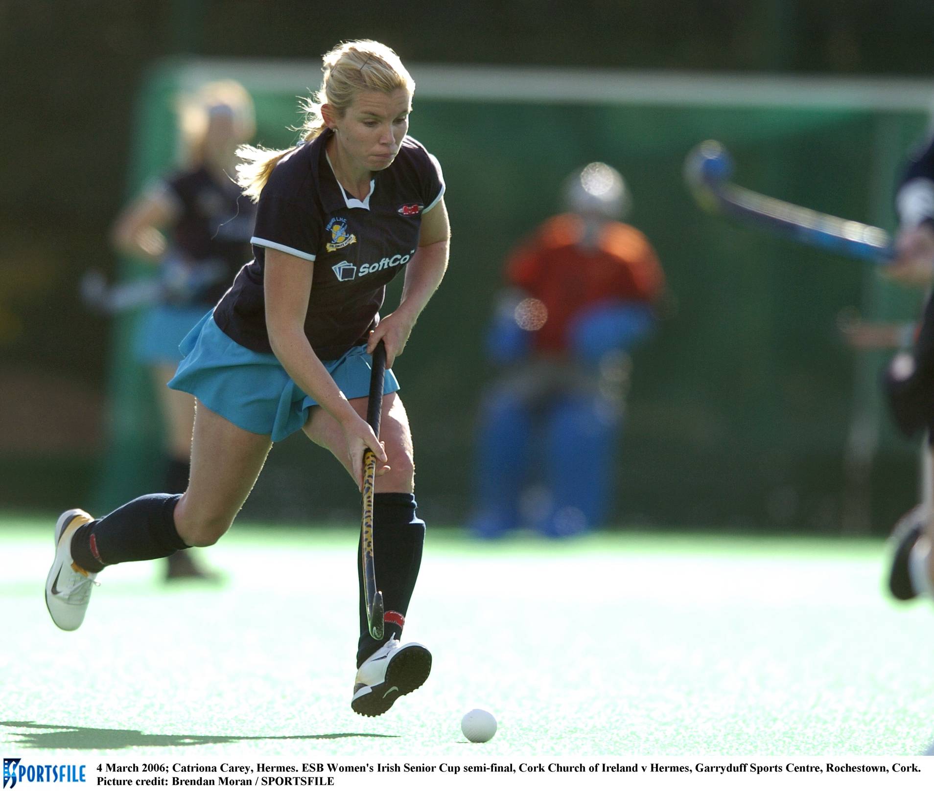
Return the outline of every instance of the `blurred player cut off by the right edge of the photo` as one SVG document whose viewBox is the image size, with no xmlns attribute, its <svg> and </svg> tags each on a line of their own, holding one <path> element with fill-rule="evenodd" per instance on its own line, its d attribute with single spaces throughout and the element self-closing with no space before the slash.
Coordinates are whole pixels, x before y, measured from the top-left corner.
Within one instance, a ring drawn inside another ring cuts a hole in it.
<svg viewBox="0 0 934 791">
<path fill-rule="evenodd" d="M 884 273 L 909 287 L 930 290 L 934 282 L 934 140 L 914 157 L 901 178 L 896 205 L 898 257 Z M 931 439 L 934 437 L 934 304 L 927 297 L 910 352 L 896 355 L 885 372 L 890 412 L 911 437 L 927 431 L 922 464 L 922 501 L 903 516 L 892 534 L 889 588 L 899 600 L 934 594 Z"/>
</svg>

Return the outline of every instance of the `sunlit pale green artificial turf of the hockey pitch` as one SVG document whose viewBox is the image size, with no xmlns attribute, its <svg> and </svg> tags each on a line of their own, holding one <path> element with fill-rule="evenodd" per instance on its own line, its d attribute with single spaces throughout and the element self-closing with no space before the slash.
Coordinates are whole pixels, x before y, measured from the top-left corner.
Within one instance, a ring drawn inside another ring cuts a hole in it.
<svg viewBox="0 0 934 791">
<path fill-rule="evenodd" d="M 202 556 L 220 586 L 109 569 L 66 633 L 42 597 L 52 524 L 0 519 L 5 755 L 902 756 L 934 739 L 934 612 L 884 597 L 878 541 L 433 530 L 405 630 L 431 678 L 363 718 L 356 526 L 237 525 Z M 474 708 L 499 721 L 491 742 L 461 735 Z"/>
</svg>

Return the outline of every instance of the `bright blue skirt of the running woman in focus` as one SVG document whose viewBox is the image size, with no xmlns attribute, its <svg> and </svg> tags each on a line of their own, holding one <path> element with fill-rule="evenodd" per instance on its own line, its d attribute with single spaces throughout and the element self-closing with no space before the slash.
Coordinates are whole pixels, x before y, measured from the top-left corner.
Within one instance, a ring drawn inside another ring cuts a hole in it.
<svg viewBox="0 0 934 791">
<path fill-rule="evenodd" d="M 299 389 L 276 360 L 240 346 L 215 323 L 209 311 L 181 342 L 184 359 L 168 386 L 191 393 L 234 426 L 269 434 L 273 442 L 299 431 L 316 401 Z M 354 346 L 338 360 L 321 360 L 348 399 L 370 394 L 372 358 L 366 346 Z M 387 370 L 383 394 L 399 389 Z"/>
</svg>

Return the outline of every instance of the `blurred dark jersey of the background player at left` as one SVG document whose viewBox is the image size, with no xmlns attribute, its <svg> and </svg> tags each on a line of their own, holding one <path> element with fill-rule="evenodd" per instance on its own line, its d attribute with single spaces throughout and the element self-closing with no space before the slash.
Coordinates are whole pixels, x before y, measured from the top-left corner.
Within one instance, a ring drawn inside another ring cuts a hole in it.
<svg viewBox="0 0 934 791">
<path fill-rule="evenodd" d="M 164 179 L 163 188 L 175 206 L 168 255 L 179 254 L 195 266 L 212 266 L 218 274 L 192 298 L 210 307 L 230 287 L 234 275 L 250 259 L 256 207 L 231 180 L 219 182 L 205 167 Z"/>
</svg>

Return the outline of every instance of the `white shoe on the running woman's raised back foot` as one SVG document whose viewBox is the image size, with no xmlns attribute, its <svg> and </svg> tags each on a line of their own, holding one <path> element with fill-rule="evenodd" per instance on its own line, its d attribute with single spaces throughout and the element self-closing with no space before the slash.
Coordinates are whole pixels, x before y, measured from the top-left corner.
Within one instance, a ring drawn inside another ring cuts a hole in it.
<svg viewBox="0 0 934 791">
<path fill-rule="evenodd" d="M 86 572 L 71 557 L 71 539 L 81 525 L 92 516 L 80 508 L 72 508 L 59 516 L 55 524 L 55 560 L 46 579 L 46 607 L 55 626 L 74 631 L 81 626 L 91 600 L 97 574 Z"/>
</svg>

